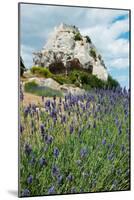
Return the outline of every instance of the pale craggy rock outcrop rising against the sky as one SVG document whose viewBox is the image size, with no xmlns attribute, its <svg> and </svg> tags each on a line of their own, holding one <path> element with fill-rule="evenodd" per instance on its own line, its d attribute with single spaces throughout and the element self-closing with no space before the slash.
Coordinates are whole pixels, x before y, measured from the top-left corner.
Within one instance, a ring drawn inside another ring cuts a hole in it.
<svg viewBox="0 0 134 200">
<path fill-rule="evenodd" d="M 71 68 L 79 68 L 102 80 L 108 78 L 104 61 L 91 39 L 82 36 L 75 26 L 61 24 L 55 27 L 43 49 L 34 53 L 33 61 L 36 66 L 49 67 L 55 73 L 61 70 L 67 74 Z"/>
</svg>

